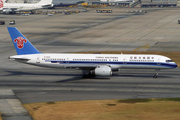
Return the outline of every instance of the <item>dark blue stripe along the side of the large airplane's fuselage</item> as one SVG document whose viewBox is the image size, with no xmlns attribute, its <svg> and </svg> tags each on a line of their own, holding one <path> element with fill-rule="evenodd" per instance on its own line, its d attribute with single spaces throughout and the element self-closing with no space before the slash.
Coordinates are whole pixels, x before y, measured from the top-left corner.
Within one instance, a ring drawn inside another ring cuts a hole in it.
<svg viewBox="0 0 180 120">
<path fill-rule="evenodd" d="M 109 64 L 109 65 L 148 65 L 148 66 L 161 66 L 167 68 L 176 68 L 175 63 L 162 63 L 162 62 L 102 62 L 102 61 L 52 61 L 46 60 L 46 62 L 59 63 L 59 64 Z"/>
</svg>

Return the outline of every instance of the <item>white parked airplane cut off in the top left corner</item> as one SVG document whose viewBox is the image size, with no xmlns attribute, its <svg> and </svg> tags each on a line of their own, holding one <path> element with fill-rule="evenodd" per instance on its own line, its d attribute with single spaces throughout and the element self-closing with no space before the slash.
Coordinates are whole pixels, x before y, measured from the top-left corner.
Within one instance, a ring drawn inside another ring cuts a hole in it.
<svg viewBox="0 0 180 120">
<path fill-rule="evenodd" d="M 52 0 L 41 0 L 39 3 L 35 4 L 6 3 L 6 0 L 0 0 L 0 11 L 3 11 L 4 14 L 33 11 L 49 7 L 53 7 Z"/>
</svg>

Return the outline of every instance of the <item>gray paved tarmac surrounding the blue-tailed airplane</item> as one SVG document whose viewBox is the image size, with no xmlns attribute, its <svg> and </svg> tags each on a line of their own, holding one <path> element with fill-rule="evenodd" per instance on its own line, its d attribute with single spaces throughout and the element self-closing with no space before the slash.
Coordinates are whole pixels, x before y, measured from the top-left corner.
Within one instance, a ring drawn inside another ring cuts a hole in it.
<svg viewBox="0 0 180 120">
<path fill-rule="evenodd" d="M 127 10 L 141 8 L 112 9 L 113 13 L 90 9 L 54 16 L 0 14 L 0 19 L 6 21 L 6 25 L 0 26 L 0 91 L 13 92 L 0 95 L 0 100 L 36 103 L 180 97 L 180 68 L 160 71 L 157 79 L 152 78 L 155 73 L 152 70 L 121 70 L 108 78 L 82 79 L 78 70 L 39 68 L 8 60 L 16 55 L 7 31 L 9 26 L 17 27 L 44 53 L 180 51 L 179 8 L 142 8 L 147 13 L 139 14 Z M 16 25 L 8 24 L 12 19 Z"/>
</svg>

